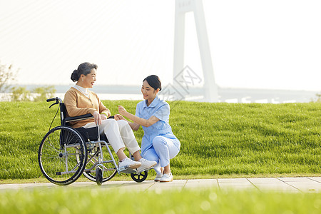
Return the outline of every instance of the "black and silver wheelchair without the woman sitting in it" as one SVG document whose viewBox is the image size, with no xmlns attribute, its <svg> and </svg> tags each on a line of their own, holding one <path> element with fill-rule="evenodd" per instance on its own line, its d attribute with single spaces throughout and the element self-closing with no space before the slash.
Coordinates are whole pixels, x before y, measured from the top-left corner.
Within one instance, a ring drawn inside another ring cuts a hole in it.
<svg viewBox="0 0 321 214">
<path fill-rule="evenodd" d="M 99 135 L 99 126 L 93 128 L 68 126 L 72 121 L 93 118 L 90 113 L 83 116 L 66 117 L 66 106 L 61 98 L 50 98 L 46 101 L 56 101 L 51 106 L 59 105 L 56 115 L 60 109 L 61 119 L 61 126 L 49 128 L 38 151 L 40 170 L 51 183 L 68 185 L 75 182 L 81 174 L 98 185 L 111 180 L 116 173 L 130 173 L 131 178 L 136 182 L 146 180 L 148 170 L 138 173 L 136 169 L 127 166 L 118 167 L 116 163 L 118 157 L 111 152 L 106 135 Z M 131 153 L 130 156 L 133 159 Z"/>
</svg>

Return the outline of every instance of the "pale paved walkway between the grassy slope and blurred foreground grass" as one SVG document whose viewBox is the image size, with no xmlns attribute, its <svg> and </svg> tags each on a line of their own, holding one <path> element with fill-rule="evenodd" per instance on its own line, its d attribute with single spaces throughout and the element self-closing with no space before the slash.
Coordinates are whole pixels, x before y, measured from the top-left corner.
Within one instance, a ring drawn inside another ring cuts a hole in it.
<svg viewBox="0 0 321 214">
<path fill-rule="evenodd" d="M 75 182 L 68 185 L 68 188 L 92 188 L 97 186 L 94 182 Z M 12 189 L 32 188 L 57 188 L 52 183 L 22 183 L 22 184 L 1 184 L 0 191 Z M 300 177 L 300 178 L 216 178 L 216 179 L 189 179 L 174 180 L 170 183 L 159 183 L 153 180 L 146 180 L 142 183 L 135 181 L 107 181 L 100 188 L 137 191 L 162 191 L 162 190 L 204 190 L 208 188 L 219 188 L 221 190 L 272 190 L 285 191 L 290 193 L 321 193 L 321 177 Z"/>
</svg>

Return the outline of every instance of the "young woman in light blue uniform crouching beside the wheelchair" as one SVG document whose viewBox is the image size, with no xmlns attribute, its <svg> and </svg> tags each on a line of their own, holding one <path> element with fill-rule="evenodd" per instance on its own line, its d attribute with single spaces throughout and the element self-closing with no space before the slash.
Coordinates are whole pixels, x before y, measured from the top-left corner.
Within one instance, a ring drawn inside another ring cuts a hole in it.
<svg viewBox="0 0 321 214">
<path fill-rule="evenodd" d="M 170 159 L 177 156 L 180 151 L 180 141 L 173 135 L 172 128 L 168 124 L 170 106 L 165 101 L 158 98 L 161 91 L 161 81 L 156 75 L 151 75 L 143 80 L 141 93 L 145 101 L 141 101 L 136 106 L 136 115 L 128 113 L 123 106 L 118 106 L 116 120 L 125 120 L 123 116 L 131 119 L 133 123 L 127 121 L 133 130 L 143 127 L 144 136 L 141 141 L 141 155 L 148 161 L 156 161 L 155 181 L 173 181 L 170 173 Z"/>
</svg>

